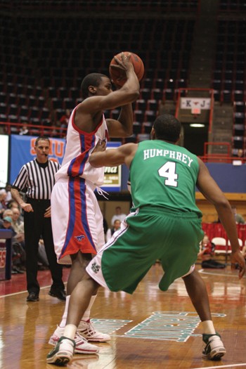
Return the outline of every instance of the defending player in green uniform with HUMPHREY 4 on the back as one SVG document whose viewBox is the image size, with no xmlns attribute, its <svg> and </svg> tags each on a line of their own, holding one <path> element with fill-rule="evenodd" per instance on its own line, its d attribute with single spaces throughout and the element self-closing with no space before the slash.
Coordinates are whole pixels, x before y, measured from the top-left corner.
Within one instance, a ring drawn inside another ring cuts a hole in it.
<svg viewBox="0 0 246 369">
<path fill-rule="evenodd" d="M 86 276 L 72 292 L 65 337 L 48 354 L 48 363 L 60 365 L 72 360 L 77 325 L 100 285 L 133 293 L 156 259 L 163 268 L 161 290 L 167 290 L 179 277 L 186 284 L 202 321 L 202 357 L 218 360 L 226 353 L 214 330 L 205 283 L 194 266 L 203 236 L 195 186 L 216 207 L 231 242 L 232 268 L 235 263 L 239 265 L 239 278 L 245 273 L 245 259 L 240 253 L 231 205 L 205 164 L 177 145 L 180 131 L 181 124 L 175 117 L 160 115 L 151 131 L 153 141 L 128 143 L 113 150 L 105 150 L 101 142 L 89 157 L 93 167 L 127 164 L 134 206 L 119 231 L 91 260 Z"/>
</svg>

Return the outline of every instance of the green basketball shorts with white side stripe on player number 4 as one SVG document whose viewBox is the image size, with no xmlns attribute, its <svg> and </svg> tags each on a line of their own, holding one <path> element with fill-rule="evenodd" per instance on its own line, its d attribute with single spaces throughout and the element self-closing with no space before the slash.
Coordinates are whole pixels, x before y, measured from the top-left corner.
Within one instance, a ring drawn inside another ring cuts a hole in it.
<svg viewBox="0 0 246 369">
<path fill-rule="evenodd" d="M 176 278 L 193 270 L 202 238 L 196 214 L 140 209 L 127 216 L 86 271 L 110 291 L 131 294 L 159 259 L 164 271 L 159 287 L 166 291 Z"/>
</svg>

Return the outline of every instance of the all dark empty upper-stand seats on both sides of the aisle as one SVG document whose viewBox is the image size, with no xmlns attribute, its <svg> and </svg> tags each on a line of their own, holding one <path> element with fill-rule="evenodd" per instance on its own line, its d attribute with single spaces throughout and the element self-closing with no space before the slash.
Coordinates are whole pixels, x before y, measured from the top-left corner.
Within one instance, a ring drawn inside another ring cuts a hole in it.
<svg viewBox="0 0 246 369">
<path fill-rule="evenodd" d="M 188 86 L 199 0 L 9 0 L 0 9 L 9 11 L 0 16 L 1 122 L 56 125 L 66 108 L 82 101 L 79 86 L 84 75 L 108 75 L 112 55 L 122 50 L 137 51 L 145 63 L 141 96 L 134 104 L 135 137 L 149 134 L 160 101 L 175 101 L 177 89 Z M 27 15 L 13 22 L 13 9 Z M 28 15 L 35 11 L 60 14 Z M 235 148 L 245 142 L 243 12 L 243 1 L 219 1 L 211 80 L 216 101 L 233 104 Z M 90 21 L 86 14 L 93 14 Z M 117 117 L 117 110 L 110 116 Z"/>
</svg>

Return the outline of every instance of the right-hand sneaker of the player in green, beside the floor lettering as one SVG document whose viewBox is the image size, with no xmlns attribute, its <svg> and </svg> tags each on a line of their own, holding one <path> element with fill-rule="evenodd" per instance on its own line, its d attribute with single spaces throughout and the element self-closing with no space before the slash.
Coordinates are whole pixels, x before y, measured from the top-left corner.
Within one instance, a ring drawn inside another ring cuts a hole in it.
<svg viewBox="0 0 246 369">
<path fill-rule="evenodd" d="M 202 358 L 208 358 L 210 360 L 220 360 L 224 354 L 226 354 L 226 349 L 221 341 L 221 336 L 219 333 L 215 335 L 202 335 L 203 342 L 205 343 L 205 348 L 202 351 Z"/>
</svg>

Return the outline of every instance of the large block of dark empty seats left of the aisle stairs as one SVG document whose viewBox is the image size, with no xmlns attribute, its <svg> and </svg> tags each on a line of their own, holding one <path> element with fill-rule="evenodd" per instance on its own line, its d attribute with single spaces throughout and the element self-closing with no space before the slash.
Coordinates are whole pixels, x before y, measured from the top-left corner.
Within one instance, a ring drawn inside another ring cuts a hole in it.
<svg viewBox="0 0 246 369">
<path fill-rule="evenodd" d="M 81 6 L 86 3 L 79 1 Z M 94 3 L 94 6 L 102 5 L 100 1 Z M 151 1 L 116 3 L 143 6 L 144 10 Z M 186 6 L 182 3 L 167 1 L 164 8 L 173 6 L 180 11 L 190 7 L 194 13 L 198 8 L 198 1 L 186 1 Z M 23 1 L 23 4 L 33 6 L 35 1 Z M 47 6 L 52 4 L 48 1 Z M 134 117 L 141 123 L 141 129 L 134 124 L 134 134 L 137 136 L 139 130 L 145 133 L 145 127 L 157 115 L 159 101 L 175 98 L 176 89 L 188 83 L 194 25 L 195 15 L 193 19 L 178 17 L 164 22 L 162 19 L 93 18 L 90 22 L 71 22 L 69 18 L 21 18 L 15 32 L 11 19 L 1 19 L 1 26 L 7 30 L 0 46 L 3 51 L 1 102 L 6 104 L 6 110 L 1 105 L 1 114 L 10 117 L 11 122 L 36 124 L 39 119 L 43 124 L 48 119 L 47 114 L 43 116 L 46 108 L 50 110 L 52 124 L 56 124 L 62 110 L 72 109 L 81 101 L 79 86 L 84 75 L 93 71 L 108 75 L 108 65 L 115 53 L 137 50 L 145 63 L 139 98 L 145 103 L 136 103 Z M 115 114 L 111 116 L 116 117 Z"/>
</svg>

